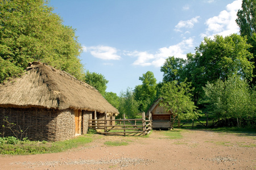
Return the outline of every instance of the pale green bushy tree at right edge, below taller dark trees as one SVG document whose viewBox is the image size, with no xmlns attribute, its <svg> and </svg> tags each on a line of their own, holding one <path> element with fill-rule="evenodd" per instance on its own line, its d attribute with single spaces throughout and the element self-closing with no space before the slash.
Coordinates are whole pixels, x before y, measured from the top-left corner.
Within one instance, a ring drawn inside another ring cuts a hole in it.
<svg viewBox="0 0 256 170">
<path fill-rule="evenodd" d="M 246 80 L 232 76 L 225 82 L 218 79 L 216 83 L 208 83 L 204 88 L 209 100 L 209 111 L 218 119 L 236 118 L 241 127 L 241 119 L 250 120 L 255 117 L 255 91 L 249 88 Z"/>
</svg>

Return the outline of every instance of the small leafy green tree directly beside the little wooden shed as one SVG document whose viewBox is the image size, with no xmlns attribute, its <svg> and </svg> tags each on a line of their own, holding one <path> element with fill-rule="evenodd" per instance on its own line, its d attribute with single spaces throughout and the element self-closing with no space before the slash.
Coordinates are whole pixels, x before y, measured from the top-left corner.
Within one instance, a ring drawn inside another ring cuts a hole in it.
<svg viewBox="0 0 256 170">
<path fill-rule="evenodd" d="M 191 83 L 181 82 L 176 80 L 164 83 L 161 88 L 160 97 L 163 98 L 160 106 L 163 106 L 166 111 L 172 112 L 171 129 L 176 120 L 188 120 L 197 118 L 199 113 L 196 112 L 196 106 L 191 101 Z"/>
</svg>

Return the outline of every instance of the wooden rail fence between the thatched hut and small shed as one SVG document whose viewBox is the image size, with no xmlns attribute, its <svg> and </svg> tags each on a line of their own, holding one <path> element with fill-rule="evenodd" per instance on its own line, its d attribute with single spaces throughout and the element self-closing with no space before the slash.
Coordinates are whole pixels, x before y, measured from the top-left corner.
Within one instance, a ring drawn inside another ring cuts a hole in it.
<svg viewBox="0 0 256 170">
<path fill-rule="evenodd" d="M 117 120 L 108 120 L 106 113 L 104 120 L 90 119 L 90 129 L 104 129 L 102 134 L 117 134 L 117 135 L 146 135 L 152 130 L 151 115 L 146 120 L 145 113 L 142 113 L 142 118 L 129 118 Z"/>
</svg>

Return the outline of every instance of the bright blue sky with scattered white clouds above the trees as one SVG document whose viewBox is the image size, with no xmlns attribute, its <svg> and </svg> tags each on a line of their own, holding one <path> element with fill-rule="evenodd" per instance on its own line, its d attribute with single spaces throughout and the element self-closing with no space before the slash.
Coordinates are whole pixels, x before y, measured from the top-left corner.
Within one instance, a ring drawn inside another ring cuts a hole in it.
<svg viewBox="0 0 256 170">
<path fill-rule="evenodd" d="M 85 70 L 109 80 L 117 95 L 142 84 L 168 57 L 195 53 L 204 37 L 239 34 L 237 11 L 242 0 L 51 0 L 63 24 L 76 29 Z"/>
</svg>

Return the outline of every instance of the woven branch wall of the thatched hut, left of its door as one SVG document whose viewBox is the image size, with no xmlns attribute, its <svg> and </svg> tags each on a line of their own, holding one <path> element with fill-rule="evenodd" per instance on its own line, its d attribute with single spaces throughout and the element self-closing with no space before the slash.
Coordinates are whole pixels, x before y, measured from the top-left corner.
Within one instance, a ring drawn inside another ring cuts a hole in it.
<svg viewBox="0 0 256 170">
<path fill-rule="evenodd" d="M 60 141 L 75 136 L 75 115 L 73 111 L 59 111 L 56 109 L 39 108 L 0 108 L 0 133 L 5 136 L 13 135 L 3 121 L 5 117 L 11 123 L 16 124 L 13 130 L 27 130 L 23 137 L 32 141 Z M 20 129 L 19 129 L 20 126 Z M 16 133 L 18 134 L 18 133 Z M 20 138 L 20 134 L 18 134 Z"/>
</svg>

